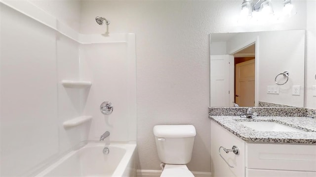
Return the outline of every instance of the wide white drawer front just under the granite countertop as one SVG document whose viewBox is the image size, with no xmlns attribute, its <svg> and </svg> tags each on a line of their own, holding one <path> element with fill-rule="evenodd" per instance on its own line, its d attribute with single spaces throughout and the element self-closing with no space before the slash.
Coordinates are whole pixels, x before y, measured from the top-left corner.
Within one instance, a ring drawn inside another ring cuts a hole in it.
<svg viewBox="0 0 316 177">
<path fill-rule="evenodd" d="M 248 169 L 316 171 L 315 145 L 246 143 Z"/>
</svg>

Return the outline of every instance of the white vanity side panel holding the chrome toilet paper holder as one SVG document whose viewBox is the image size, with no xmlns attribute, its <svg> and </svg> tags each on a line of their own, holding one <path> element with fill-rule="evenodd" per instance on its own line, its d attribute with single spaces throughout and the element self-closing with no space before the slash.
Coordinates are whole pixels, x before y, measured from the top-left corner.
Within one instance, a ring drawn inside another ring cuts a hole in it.
<svg viewBox="0 0 316 177">
<path fill-rule="evenodd" d="M 239 148 L 239 155 L 233 152 L 225 153 L 221 149 L 222 156 L 228 161 L 230 168 L 220 157 L 220 147 L 231 149 L 233 146 Z M 213 177 L 244 177 L 245 176 L 245 143 L 237 136 L 220 126 L 212 120 L 211 122 L 211 169 Z"/>
</svg>

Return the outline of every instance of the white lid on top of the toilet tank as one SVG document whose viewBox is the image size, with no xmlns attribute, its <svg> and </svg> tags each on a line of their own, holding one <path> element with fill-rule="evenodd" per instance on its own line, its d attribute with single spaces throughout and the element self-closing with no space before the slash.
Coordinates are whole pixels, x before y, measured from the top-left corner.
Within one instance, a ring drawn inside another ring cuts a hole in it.
<svg viewBox="0 0 316 177">
<path fill-rule="evenodd" d="M 196 136 L 193 125 L 156 125 L 154 135 L 159 138 L 188 138 Z"/>
</svg>

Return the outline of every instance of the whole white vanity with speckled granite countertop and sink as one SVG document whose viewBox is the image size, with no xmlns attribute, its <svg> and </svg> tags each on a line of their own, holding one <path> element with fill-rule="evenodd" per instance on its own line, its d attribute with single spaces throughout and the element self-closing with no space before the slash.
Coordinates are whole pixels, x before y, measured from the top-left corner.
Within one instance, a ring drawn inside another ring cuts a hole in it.
<svg viewBox="0 0 316 177">
<path fill-rule="evenodd" d="M 316 177 L 315 118 L 209 118 L 213 177 Z"/>
</svg>

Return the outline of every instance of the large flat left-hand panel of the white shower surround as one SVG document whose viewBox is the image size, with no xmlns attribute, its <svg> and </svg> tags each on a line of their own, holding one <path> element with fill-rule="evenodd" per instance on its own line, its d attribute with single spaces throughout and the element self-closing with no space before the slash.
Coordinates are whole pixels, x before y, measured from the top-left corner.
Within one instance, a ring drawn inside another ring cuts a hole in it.
<svg viewBox="0 0 316 177">
<path fill-rule="evenodd" d="M 0 8 L 1 176 L 21 176 L 58 153 L 56 41 L 53 30 Z"/>
</svg>

